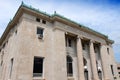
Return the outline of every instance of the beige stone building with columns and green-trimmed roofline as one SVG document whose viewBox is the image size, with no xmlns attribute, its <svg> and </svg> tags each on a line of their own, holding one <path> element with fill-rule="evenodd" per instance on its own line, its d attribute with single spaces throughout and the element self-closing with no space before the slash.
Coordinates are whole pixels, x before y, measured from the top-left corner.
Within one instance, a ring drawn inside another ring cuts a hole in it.
<svg viewBox="0 0 120 80">
<path fill-rule="evenodd" d="M 0 39 L 0 80 L 118 79 L 107 36 L 21 4 Z"/>
</svg>

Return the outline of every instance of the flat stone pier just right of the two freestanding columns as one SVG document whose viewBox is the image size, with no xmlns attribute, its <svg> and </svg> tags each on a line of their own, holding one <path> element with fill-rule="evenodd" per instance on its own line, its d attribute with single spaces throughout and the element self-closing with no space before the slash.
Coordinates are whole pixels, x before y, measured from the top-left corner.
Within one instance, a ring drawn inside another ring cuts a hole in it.
<svg viewBox="0 0 120 80">
<path fill-rule="evenodd" d="M 101 54 L 101 61 L 102 61 L 102 66 L 103 66 L 103 77 L 104 80 L 109 80 L 109 74 L 108 74 L 108 63 L 106 61 L 106 56 L 107 56 L 107 48 L 105 47 L 105 45 L 101 44 L 101 49 L 100 49 L 100 54 Z"/>
</svg>

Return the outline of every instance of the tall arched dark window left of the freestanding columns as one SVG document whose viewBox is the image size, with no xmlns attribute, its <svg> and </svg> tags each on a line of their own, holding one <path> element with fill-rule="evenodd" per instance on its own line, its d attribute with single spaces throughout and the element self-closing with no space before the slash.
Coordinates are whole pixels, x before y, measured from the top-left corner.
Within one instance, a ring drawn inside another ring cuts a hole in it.
<svg viewBox="0 0 120 80">
<path fill-rule="evenodd" d="M 67 56 L 67 76 L 73 76 L 72 58 Z"/>
</svg>

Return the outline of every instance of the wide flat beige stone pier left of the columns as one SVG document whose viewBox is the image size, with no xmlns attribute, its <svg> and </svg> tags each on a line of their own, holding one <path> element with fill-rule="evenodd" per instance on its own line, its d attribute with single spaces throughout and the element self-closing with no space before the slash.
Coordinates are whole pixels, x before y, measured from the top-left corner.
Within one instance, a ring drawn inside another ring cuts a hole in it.
<svg viewBox="0 0 120 80">
<path fill-rule="evenodd" d="M 65 33 L 54 30 L 54 79 L 67 80 Z"/>
</svg>

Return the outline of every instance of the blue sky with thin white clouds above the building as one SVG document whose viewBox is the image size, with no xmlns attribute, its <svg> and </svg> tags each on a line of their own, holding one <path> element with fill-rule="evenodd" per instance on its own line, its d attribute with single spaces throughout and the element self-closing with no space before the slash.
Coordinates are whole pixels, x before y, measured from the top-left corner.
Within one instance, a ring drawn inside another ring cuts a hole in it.
<svg viewBox="0 0 120 80">
<path fill-rule="evenodd" d="M 120 62 L 120 0 L 1 0 L 0 36 L 21 2 L 41 11 L 56 11 L 114 40 L 115 59 Z"/>
</svg>

